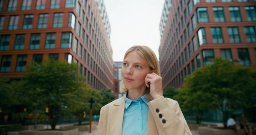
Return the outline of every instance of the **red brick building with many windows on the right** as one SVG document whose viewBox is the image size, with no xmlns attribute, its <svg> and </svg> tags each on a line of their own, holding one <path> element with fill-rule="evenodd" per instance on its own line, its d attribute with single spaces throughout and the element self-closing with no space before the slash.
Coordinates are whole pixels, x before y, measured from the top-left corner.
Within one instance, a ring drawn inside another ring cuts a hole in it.
<svg viewBox="0 0 256 135">
<path fill-rule="evenodd" d="M 256 69 L 256 0 L 165 0 L 159 59 L 163 87 L 179 87 L 221 57 Z"/>
</svg>

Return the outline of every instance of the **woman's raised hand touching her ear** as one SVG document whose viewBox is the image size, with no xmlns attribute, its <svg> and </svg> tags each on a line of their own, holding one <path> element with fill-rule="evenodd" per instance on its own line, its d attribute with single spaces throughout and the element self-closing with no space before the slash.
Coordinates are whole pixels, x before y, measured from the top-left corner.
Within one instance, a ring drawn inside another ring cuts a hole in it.
<svg viewBox="0 0 256 135">
<path fill-rule="evenodd" d="M 162 77 L 158 76 L 158 74 L 155 74 L 154 72 L 147 74 L 145 77 L 145 84 L 149 87 L 150 95 L 153 99 L 157 99 L 163 95 Z"/>
</svg>

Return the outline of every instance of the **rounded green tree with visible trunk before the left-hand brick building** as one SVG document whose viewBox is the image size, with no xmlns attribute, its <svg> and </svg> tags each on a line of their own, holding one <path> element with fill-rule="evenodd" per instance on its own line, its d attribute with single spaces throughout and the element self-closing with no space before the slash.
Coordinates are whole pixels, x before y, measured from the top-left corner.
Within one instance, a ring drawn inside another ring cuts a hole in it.
<svg viewBox="0 0 256 135">
<path fill-rule="evenodd" d="M 34 109 L 49 108 L 49 122 L 55 129 L 60 113 L 70 103 L 79 102 L 75 98 L 82 86 L 76 64 L 66 61 L 48 60 L 43 64 L 33 64 L 26 74 L 27 95 Z"/>
</svg>

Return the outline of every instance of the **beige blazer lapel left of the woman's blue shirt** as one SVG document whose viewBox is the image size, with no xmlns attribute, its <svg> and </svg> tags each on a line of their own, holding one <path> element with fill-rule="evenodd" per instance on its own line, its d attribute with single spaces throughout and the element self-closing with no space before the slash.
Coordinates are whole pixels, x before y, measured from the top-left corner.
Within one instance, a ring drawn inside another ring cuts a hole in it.
<svg viewBox="0 0 256 135">
<path fill-rule="evenodd" d="M 111 109 L 110 135 L 121 135 L 125 112 L 125 96 L 116 100 Z"/>
</svg>

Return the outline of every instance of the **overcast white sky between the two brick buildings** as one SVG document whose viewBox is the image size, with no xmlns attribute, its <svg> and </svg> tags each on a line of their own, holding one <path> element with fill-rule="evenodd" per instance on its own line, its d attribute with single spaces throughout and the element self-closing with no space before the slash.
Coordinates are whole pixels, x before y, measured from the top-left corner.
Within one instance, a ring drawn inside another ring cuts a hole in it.
<svg viewBox="0 0 256 135">
<path fill-rule="evenodd" d="M 164 0 L 104 0 L 111 25 L 113 61 L 123 61 L 133 45 L 149 46 L 157 55 Z"/>
</svg>

